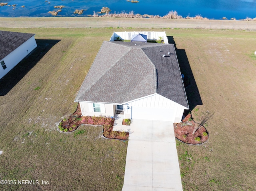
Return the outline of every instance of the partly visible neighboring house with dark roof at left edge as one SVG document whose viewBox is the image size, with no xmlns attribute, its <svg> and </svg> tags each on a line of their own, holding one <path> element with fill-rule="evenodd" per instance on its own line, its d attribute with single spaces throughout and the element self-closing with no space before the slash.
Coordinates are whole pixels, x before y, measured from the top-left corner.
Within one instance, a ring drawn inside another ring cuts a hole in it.
<svg viewBox="0 0 256 191">
<path fill-rule="evenodd" d="M 0 79 L 37 47 L 34 35 L 0 31 Z"/>
</svg>

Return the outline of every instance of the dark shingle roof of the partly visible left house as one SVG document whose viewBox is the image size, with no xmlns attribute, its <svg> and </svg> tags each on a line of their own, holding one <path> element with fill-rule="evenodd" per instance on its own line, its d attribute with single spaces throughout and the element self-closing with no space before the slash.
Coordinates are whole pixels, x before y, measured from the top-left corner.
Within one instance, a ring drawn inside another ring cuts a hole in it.
<svg viewBox="0 0 256 191">
<path fill-rule="evenodd" d="M 0 31 L 0 60 L 34 35 L 30 33 Z"/>
</svg>

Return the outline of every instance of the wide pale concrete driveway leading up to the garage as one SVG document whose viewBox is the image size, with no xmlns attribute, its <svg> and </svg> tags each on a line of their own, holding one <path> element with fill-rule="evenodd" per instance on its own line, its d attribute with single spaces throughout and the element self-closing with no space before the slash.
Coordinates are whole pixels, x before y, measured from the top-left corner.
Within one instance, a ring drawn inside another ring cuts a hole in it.
<svg viewBox="0 0 256 191">
<path fill-rule="evenodd" d="M 122 191 L 182 191 L 172 122 L 132 120 Z"/>
</svg>

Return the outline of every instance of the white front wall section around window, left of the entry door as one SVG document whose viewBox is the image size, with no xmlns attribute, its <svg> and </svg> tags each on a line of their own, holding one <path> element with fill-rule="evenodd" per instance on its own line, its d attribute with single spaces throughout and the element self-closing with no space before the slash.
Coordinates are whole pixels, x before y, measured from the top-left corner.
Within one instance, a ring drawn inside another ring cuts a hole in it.
<svg viewBox="0 0 256 191">
<path fill-rule="evenodd" d="M 114 116 L 113 104 L 100 103 L 100 112 L 94 112 L 93 103 L 79 102 L 83 116 Z"/>
</svg>

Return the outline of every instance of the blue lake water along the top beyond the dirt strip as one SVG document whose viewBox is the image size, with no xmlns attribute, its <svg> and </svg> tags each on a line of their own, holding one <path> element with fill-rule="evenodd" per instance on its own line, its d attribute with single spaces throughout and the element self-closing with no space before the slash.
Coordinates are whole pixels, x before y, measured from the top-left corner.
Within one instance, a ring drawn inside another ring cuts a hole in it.
<svg viewBox="0 0 256 191">
<path fill-rule="evenodd" d="M 108 7 L 112 12 L 134 11 L 135 14 L 164 16 L 171 10 L 179 15 L 201 15 L 209 19 L 226 17 L 244 19 L 256 17 L 256 0 L 139 0 L 131 3 L 127 0 L 0 0 L 12 6 L 0 6 L 0 17 L 50 17 L 49 11 L 58 10 L 54 6 L 63 5 L 58 16 L 88 16 Z M 25 6 L 22 8 L 21 6 Z M 74 14 L 76 9 L 86 9 L 82 15 Z"/>
</svg>

